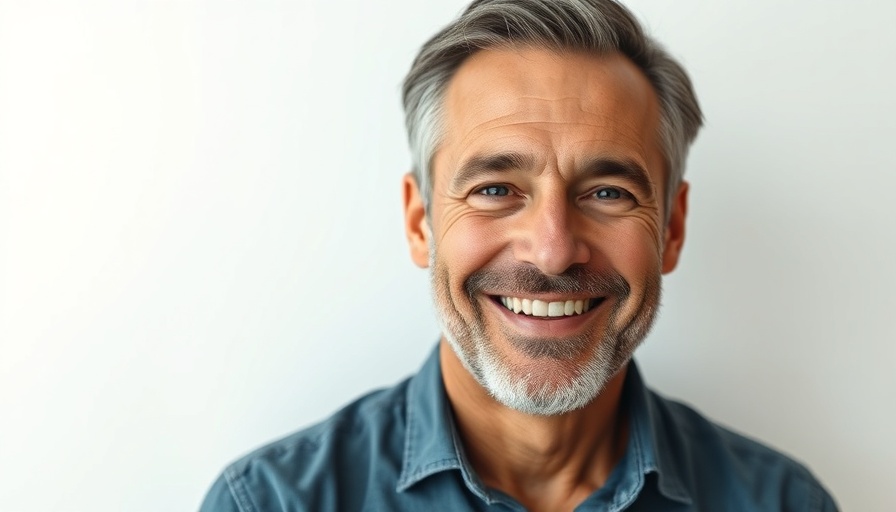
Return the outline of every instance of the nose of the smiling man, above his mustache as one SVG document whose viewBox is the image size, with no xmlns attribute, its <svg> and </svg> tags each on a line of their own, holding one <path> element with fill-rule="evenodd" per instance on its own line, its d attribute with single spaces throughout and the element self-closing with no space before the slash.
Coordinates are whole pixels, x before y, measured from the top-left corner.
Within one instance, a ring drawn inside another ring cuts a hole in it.
<svg viewBox="0 0 896 512">
<path fill-rule="evenodd" d="M 581 236 L 584 226 L 565 194 L 541 197 L 520 216 L 514 240 L 517 261 L 531 263 L 546 275 L 560 275 L 591 257 Z"/>
</svg>

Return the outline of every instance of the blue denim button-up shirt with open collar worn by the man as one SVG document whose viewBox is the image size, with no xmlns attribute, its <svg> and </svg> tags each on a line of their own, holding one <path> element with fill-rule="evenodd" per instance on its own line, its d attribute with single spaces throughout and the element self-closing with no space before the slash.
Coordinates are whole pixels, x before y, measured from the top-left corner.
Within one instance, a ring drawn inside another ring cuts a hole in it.
<svg viewBox="0 0 896 512">
<path fill-rule="evenodd" d="M 647 389 L 634 362 L 628 447 L 575 510 L 833 511 L 800 464 Z M 438 350 L 420 373 L 227 467 L 202 512 L 522 511 L 464 455 Z"/>
</svg>

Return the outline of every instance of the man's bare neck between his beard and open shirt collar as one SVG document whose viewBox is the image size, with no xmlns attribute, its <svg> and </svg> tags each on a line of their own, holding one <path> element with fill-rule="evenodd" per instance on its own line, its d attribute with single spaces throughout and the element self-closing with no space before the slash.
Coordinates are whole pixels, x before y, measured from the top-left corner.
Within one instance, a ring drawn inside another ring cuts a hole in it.
<svg viewBox="0 0 896 512">
<path fill-rule="evenodd" d="M 607 480 L 625 453 L 623 368 L 582 409 L 532 416 L 497 402 L 443 339 L 442 378 L 467 458 L 479 478 L 528 510 L 572 510 Z"/>
</svg>

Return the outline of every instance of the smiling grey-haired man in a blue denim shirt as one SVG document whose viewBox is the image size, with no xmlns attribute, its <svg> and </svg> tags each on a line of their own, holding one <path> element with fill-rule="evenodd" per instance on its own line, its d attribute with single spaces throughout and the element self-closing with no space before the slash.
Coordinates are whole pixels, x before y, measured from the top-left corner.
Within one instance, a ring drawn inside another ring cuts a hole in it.
<svg viewBox="0 0 896 512">
<path fill-rule="evenodd" d="M 684 242 L 684 70 L 610 0 L 478 0 L 405 81 L 419 374 L 227 468 L 203 510 L 835 510 L 799 464 L 645 388 Z"/>
</svg>

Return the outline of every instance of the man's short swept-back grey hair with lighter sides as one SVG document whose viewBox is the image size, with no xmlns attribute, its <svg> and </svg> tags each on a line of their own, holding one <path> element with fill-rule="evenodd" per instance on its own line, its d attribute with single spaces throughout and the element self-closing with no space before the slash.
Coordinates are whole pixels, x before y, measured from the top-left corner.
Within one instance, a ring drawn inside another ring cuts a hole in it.
<svg viewBox="0 0 896 512">
<path fill-rule="evenodd" d="M 660 103 L 668 218 L 684 175 L 688 148 L 703 124 L 703 115 L 684 68 L 614 0 L 475 0 L 423 45 L 402 93 L 413 173 L 427 214 L 432 198 L 432 157 L 444 130 L 443 104 L 451 78 L 464 60 L 479 50 L 521 45 L 554 51 L 619 52 L 647 76 Z"/>
</svg>

